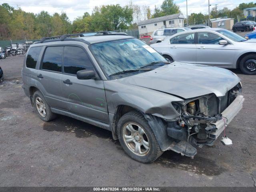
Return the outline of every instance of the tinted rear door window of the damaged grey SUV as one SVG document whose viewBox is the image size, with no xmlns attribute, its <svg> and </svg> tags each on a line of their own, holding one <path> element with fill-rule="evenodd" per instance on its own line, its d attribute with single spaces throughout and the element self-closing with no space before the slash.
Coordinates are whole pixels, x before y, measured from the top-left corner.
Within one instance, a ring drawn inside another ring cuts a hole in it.
<svg viewBox="0 0 256 192">
<path fill-rule="evenodd" d="M 61 72 L 63 46 L 47 47 L 44 52 L 42 69 Z"/>
</svg>

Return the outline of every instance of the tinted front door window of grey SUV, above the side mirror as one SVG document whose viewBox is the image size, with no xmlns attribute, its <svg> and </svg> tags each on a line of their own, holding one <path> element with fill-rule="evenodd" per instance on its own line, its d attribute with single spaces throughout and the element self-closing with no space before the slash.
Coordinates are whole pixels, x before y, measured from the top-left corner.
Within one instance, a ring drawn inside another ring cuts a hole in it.
<svg viewBox="0 0 256 192">
<path fill-rule="evenodd" d="M 86 52 L 80 47 L 65 46 L 63 56 L 64 73 L 76 74 L 84 69 L 94 70 L 92 62 Z"/>
</svg>

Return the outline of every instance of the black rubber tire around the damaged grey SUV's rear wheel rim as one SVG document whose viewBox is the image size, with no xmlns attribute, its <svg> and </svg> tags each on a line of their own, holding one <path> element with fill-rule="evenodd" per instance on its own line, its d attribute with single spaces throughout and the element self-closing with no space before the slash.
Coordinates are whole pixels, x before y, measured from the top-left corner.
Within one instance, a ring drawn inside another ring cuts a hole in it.
<svg viewBox="0 0 256 192">
<path fill-rule="evenodd" d="M 45 105 L 45 111 L 46 111 L 46 115 L 45 116 L 42 116 L 39 112 L 38 112 L 38 109 L 36 107 L 36 99 L 37 98 L 41 98 L 44 105 Z M 43 121 L 51 121 L 53 120 L 54 118 L 56 118 L 56 114 L 54 114 L 52 111 L 51 111 L 51 108 L 50 106 L 47 104 L 43 94 L 39 91 L 36 91 L 33 95 L 33 102 L 34 102 L 34 107 L 36 108 L 36 112 L 38 113 L 40 119 L 42 119 Z"/>
</svg>

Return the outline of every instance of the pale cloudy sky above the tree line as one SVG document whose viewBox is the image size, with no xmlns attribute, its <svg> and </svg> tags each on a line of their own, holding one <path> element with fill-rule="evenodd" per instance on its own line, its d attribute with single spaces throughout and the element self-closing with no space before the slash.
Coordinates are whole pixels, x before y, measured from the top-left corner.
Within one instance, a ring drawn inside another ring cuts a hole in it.
<svg viewBox="0 0 256 192">
<path fill-rule="evenodd" d="M 129 0 L 0 0 L 0 4 L 4 2 L 10 4 L 14 8 L 20 6 L 22 10 L 33 12 L 35 14 L 42 10 L 48 11 L 50 14 L 54 14 L 54 12 L 61 13 L 64 11 L 71 21 L 78 16 L 82 16 L 84 12 L 89 12 L 91 14 L 94 6 L 107 4 L 120 4 L 121 6 L 124 6 L 129 4 Z M 133 0 L 132 2 L 133 4 L 138 4 L 140 6 L 149 6 L 152 13 L 154 12 L 155 5 L 160 6 L 162 4 L 162 0 Z M 181 12 L 186 17 L 186 0 L 174 0 L 174 2 L 180 6 Z M 210 0 L 212 6 L 218 4 L 217 9 L 222 9 L 223 7 L 233 9 L 243 2 L 248 3 L 252 2 L 252 0 Z M 188 15 L 193 12 L 208 14 L 208 0 L 188 0 Z"/>
</svg>

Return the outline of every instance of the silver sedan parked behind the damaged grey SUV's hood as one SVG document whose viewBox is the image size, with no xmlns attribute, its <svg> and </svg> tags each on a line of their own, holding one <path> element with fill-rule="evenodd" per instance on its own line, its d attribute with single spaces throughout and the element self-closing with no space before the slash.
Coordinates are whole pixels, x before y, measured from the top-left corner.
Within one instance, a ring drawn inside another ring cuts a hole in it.
<svg viewBox="0 0 256 192">
<path fill-rule="evenodd" d="M 256 74 L 256 40 L 247 40 L 225 29 L 180 32 L 151 46 L 169 60 L 240 68 L 244 74 Z"/>
</svg>

